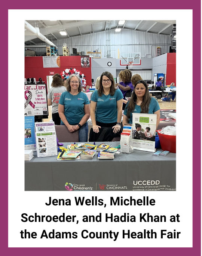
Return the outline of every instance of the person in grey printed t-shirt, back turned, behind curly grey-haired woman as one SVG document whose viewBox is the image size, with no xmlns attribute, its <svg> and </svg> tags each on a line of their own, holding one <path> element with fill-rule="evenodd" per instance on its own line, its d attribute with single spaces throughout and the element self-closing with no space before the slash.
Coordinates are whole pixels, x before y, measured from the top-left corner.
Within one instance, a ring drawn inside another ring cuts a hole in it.
<svg viewBox="0 0 202 256">
<path fill-rule="evenodd" d="M 58 104 L 61 94 L 66 91 L 66 87 L 64 85 L 65 83 L 62 80 L 62 76 L 55 74 L 48 94 L 48 106 L 52 105 L 52 119 L 56 125 L 60 125 L 61 123 L 58 113 Z"/>
</svg>

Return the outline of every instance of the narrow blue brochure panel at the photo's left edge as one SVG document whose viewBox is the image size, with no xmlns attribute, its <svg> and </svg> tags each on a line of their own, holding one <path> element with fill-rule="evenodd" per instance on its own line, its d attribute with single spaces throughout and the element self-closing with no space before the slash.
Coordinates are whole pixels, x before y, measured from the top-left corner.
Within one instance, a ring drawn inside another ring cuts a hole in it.
<svg viewBox="0 0 202 256">
<path fill-rule="evenodd" d="M 25 116 L 25 150 L 36 151 L 36 140 L 34 130 L 34 115 Z"/>
</svg>

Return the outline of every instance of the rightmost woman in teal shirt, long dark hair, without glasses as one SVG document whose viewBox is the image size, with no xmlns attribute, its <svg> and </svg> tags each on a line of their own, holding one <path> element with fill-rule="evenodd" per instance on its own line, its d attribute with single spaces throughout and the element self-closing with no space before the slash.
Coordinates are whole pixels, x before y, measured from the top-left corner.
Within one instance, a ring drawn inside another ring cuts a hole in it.
<svg viewBox="0 0 202 256">
<path fill-rule="evenodd" d="M 144 80 L 135 83 L 131 99 L 123 112 L 123 125 L 132 124 L 132 113 L 156 114 L 156 128 L 160 121 L 160 107 L 157 100 L 149 95 L 149 88 Z"/>
</svg>

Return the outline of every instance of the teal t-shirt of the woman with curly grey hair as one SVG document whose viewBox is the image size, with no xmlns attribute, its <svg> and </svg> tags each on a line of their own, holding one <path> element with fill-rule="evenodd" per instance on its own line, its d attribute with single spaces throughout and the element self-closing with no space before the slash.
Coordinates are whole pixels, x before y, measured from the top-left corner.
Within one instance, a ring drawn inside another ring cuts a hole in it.
<svg viewBox="0 0 202 256">
<path fill-rule="evenodd" d="M 80 91 L 77 95 L 72 95 L 69 91 L 61 94 L 59 104 L 64 105 L 64 115 L 69 124 L 78 124 L 84 113 L 84 105 L 90 104 L 85 93 Z M 61 123 L 63 124 L 62 120 Z"/>
</svg>

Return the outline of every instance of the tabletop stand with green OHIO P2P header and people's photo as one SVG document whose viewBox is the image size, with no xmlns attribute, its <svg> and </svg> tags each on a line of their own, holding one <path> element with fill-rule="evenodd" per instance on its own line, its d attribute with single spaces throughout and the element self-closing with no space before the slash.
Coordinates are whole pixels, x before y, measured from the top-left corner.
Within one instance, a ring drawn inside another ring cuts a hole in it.
<svg viewBox="0 0 202 256">
<path fill-rule="evenodd" d="M 133 148 L 156 152 L 156 114 L 132 113 Z"/>
</svg>

